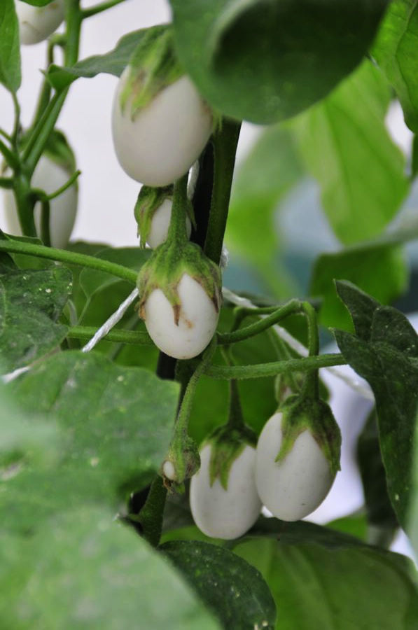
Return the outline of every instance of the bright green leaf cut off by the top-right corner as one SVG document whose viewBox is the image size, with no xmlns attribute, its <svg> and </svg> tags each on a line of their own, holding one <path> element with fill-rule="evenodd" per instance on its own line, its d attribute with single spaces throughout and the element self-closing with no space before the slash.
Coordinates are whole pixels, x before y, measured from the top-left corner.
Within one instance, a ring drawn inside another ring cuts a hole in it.
<svg viewBox="0 0 418 630">
<path fill-rule="evenodd" d="M 393 0 L 380 27 L 372 55 L 396 90 L 405 123 L 418 133 L 418 1 Z"/>
</svg>

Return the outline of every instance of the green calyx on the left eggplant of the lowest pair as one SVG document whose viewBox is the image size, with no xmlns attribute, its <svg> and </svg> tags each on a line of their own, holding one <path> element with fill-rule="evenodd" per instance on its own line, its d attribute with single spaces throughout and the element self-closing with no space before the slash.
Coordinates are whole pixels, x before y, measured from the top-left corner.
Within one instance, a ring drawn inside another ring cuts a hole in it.
<svg viewBox="0 0 418 630">
<path fill-rule="evenodd" d="M 257 436 L 248 426 L 231 428 L 228 424 L 214 430 L 203 446 L 211 445 L 209 462 L 209 479 L 211 486 L 219 479 L 223 489 L 228 490 L 230 470 L 235 460 L 242 454 L 246 446 L 256 447 Z"/>
</svg>

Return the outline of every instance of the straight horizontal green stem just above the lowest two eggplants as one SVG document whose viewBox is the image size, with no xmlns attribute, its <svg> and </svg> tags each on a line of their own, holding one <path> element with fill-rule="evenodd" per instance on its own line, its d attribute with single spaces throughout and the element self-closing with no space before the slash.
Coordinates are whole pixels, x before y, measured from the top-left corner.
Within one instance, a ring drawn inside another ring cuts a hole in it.
<svg viewBox="0 0 418 630">
<path fill-rule="evenodd" d="M 342 354 L 319 354 L 286 361 L 272 361 L 258 365 L 210 365 L 204 374 L 213 379 L 258 379 L 285 372 L 309 372 L 319 370 L 320 367 L 345 365 L 347 361 Z"/>
</svg>

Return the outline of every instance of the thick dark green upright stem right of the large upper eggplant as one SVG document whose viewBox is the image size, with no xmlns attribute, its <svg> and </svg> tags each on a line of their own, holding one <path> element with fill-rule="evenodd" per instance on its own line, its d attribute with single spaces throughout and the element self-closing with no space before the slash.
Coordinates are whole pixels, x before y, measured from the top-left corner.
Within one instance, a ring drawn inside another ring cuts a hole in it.
<svg viewBox="0 0 418 630">
<path fill-rule="evenodd" d="M 240 128 L 241 123 L 223 120 L 221 130 L 214 134 L 214 188 L 204 253 L 216 265 L 221 260 Z"/>
</svg>

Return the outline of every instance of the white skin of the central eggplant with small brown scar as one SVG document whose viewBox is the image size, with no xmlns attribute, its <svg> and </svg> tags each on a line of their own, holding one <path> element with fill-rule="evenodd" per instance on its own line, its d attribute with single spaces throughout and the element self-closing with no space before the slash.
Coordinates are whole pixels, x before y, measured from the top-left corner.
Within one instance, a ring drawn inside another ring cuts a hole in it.
<svg viewBox="0 0 418 630">
<path fill-rule="evenodd" d="M 179 359 L 197 356 L 214 336 L 219 314 L 202 286 L 188 274 L 179 282 L 179 325 L 162 290 L 155 289 L 145 303 L 145 325 L 156 346 Z"/>
</svg>

